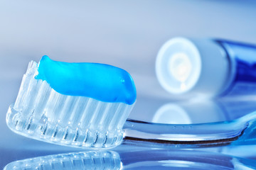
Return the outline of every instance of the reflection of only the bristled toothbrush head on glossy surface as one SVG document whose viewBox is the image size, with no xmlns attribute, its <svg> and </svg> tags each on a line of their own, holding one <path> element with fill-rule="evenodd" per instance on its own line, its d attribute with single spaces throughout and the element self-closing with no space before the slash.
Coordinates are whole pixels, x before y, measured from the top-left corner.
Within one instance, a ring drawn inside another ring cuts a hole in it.
<svg viewBox="0 0 256 170">
<path fill-rule="evenodd" d="M 75 152 L 70 154 L 54 154 L 46 157 L 35 157 L 11 162 L 4 167 L 5 170 L 28 169 L 121 169 L 117 152 Z"/>
</svg>

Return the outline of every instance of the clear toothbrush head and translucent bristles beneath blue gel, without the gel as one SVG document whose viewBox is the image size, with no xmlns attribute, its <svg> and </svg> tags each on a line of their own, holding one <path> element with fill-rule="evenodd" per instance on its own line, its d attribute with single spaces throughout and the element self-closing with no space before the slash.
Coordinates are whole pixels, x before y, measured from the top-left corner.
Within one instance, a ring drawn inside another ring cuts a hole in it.
<svg viewBox="0 0 256 170">
<path fill-rule="evenodd" d="M 73 147 L 114 147 L 122 142 L 122 126 L 133 105 L 107 103 L 84 96 L 59 94 L 35 79 L 30 62 L 6 121 L 18 134 Z"/>
</svg>

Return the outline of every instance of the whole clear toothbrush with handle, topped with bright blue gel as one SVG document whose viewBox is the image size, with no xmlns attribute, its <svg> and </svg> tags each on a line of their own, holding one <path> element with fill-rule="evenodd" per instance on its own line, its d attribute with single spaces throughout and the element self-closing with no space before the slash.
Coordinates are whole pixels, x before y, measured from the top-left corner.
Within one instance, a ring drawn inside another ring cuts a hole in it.
<svg viewBox="0 0 256 170">
<path fill-rule="evenodd" d="M 191 125 L 127 120 L 135 101 L 134 81 L 123 69 L 44 56 L 28 65 L 6 123 L 20 135 L 80 148 L 112 148 L 122 141 L 157 147 L 227 145 L 254 129 L 256 113 Z"/>
</svg>

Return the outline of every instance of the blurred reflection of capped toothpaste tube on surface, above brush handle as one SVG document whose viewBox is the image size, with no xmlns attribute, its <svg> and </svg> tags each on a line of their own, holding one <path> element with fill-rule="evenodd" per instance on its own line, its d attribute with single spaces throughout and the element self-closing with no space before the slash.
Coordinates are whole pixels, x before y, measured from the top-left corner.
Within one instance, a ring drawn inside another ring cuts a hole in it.
<svg viewBox="0 0 256 170">
<path fill-rule="evenodd" d="M 235 120 L 256 110 L 255 101 L 186 101 L 166 103 L 152 116 L 153 123 L 192 124 Z"/>
</svg>

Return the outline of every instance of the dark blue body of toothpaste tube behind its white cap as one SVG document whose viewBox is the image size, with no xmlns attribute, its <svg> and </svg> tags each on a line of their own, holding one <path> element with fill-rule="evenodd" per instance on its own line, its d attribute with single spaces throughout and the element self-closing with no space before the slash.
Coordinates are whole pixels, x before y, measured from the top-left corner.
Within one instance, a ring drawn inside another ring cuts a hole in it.
<svg viewBox="0 0 256 170">
<path fill-rule="evenodd" d="M 233 67 L 233 80 L 223 95 L 252 94 L 256 92 L 256 46 L 216 40 L 223 47 Z M 232 69 L 232 68 L 230 68 Z"/>
</svg>

